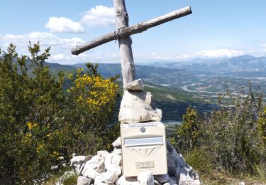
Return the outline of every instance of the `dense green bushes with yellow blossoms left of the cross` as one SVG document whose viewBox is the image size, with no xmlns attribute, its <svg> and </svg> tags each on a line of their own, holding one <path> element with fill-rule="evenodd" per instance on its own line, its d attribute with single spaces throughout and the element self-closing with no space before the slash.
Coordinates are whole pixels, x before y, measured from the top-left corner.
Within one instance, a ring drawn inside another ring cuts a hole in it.
<svg viewBox="0 0 266 185">
<path fill-rule="evenodd" d="M 64 77 L 50 74 L 45 60 L 30 44 L 27 56 L 18 56 L 12 44 L 0 51 L 0 183 L 33 184 L 59 171 L 71 154 L 94 154 L 104 149 L 104 131 L 116 101 L 117 85 L 99 75 L 97 65 L 88 72 Z"/>
</svg>

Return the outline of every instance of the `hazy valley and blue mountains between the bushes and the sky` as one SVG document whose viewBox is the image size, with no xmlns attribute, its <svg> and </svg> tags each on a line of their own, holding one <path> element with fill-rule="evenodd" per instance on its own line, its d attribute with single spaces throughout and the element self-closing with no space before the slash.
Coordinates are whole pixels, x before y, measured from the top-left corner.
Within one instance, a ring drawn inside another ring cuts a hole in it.
<svg viewBox="0 0 266 185">
<path fill-rule="evenodd" d="M 50 66 L 53 74 L 62 70 L 65 76 L 74 73 L 77 68 L 86 70 L 84 63 L 46 65 Z M 266 58 L 240 56 L 214 61 L 199 59 L 183 63 L 157 62 L 135 65 L 135 70 L 136 78 L 143 80 L 145 91 L 152 93 L 156 106 L 162 109 L 162 121 L 171 124 L 178 125 L 182 122 L 182 115 L 189 105 L 196 107 L 204 115 L 204 112 L 218 108 L 219 95 L 226 97 L 227 91 L 233 96 L 240 92 L 248 93 L 249 83 L 257 93 L 266 93 Z M 109 78 L 121 74 L 121 64 L 99 63 L 98 71 L 104 78 Z M 122 84 L 121 78 L 118 78 L 118 84 Z M 67 84 L 64 87 L 67 88 Z"/>
</svg>

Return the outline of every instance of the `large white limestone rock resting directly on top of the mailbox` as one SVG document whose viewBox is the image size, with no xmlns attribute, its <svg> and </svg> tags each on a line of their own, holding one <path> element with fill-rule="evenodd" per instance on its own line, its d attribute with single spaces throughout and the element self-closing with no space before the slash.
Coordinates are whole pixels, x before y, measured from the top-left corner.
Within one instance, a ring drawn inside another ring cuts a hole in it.
<svg viewBox="0 0 266 185">
<path fill-rule="evenodd" d="M 160 122 L 162 110 L 153 107 L 150 92 L 125 90 L 118 120 L 122 123 Z"/>
</svg>

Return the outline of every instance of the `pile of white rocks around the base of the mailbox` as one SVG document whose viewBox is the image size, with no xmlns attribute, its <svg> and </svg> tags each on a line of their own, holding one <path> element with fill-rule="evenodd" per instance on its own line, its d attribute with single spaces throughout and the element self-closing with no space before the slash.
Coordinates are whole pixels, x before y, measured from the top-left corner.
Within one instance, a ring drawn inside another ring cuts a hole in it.
<svg viewBox="0 0 266 185">
<path fill-rule="evenodd" d="M 199 176 L 184 162 L 182 155 L 176 152 L 170 142 L 167 142 L 168 173 L 156 176 L 151 171 L 133 177 L 123 176 L 120 137 L 113 142 L 113 147 L 110 153 L 104 150 L 95 156 L 75 156 L 71 159 L 71 166 L 79 174 L 78 185 L 200 184 Z"/>
</svg>

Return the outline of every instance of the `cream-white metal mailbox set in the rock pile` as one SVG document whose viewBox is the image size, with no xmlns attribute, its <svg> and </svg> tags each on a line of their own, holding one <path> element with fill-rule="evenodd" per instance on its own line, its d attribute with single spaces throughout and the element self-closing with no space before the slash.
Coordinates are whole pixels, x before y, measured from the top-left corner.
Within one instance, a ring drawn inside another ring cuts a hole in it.
<svg viewBox="0 0 266 185">
<path fill-rule="evenodd" d="M 167 174 L 165 125 L 161 122 L 121 124 L 123 175 L 141 171 Z"/>
</svg>

